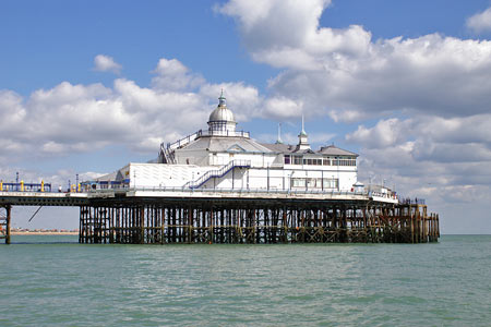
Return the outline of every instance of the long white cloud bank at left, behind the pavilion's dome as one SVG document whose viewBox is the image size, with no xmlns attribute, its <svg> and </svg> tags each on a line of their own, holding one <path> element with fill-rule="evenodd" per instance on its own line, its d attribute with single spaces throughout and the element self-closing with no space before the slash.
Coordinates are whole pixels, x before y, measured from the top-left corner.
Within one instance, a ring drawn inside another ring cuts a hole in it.
<svg viewBox="0 0 491 327">
<path fill-rule="evenodd" d="M 108 145 L 155 155 L 161 142 L 206 128 L 220 88 L 239 121 L 261 114 L 258 89 L 242 82 L 207 83 L 176 59 L 161 59 L 153 74 L 151 87 L 117 78 L 112 87 L 62 82 L 28 97 L 0 90 L 0 145 L 9 150 L 0 162 Z"/>
</svg>

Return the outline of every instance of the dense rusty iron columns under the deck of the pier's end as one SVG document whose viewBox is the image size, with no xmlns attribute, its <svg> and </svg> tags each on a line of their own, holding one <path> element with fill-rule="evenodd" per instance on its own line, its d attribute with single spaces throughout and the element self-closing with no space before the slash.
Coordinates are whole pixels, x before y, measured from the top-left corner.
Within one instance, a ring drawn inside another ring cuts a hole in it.
<svg viewBox="0 0 491 327">
<path fill-rule="evenodd" d="M 80 208 L 80 243 L 424 243 L 439 216 L 371 201 L 110 198 Z"/>
</svg>

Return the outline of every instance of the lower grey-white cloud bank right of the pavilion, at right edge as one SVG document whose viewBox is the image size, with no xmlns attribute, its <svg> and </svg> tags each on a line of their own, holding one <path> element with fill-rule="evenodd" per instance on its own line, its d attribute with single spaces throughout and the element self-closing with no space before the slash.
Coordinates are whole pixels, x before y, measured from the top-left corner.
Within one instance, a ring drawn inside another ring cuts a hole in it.
<svg viewBox="0 0 491 327">
<path fill-rule="evenodd" d="M 361 179 L 379 183 L 387 179 L 391 186 L 396 184 L 403 193 L 428 193 L 434 201 L 445 203 L 448 197 L 470 199 L 460 197 L 464 191 L 479 191 L 479 198 L 491 196 L 490 124 L 489 113 L 387 119 L 371 128 L 360 125 L 346 138 L 362 147 Z"/>
</svg>

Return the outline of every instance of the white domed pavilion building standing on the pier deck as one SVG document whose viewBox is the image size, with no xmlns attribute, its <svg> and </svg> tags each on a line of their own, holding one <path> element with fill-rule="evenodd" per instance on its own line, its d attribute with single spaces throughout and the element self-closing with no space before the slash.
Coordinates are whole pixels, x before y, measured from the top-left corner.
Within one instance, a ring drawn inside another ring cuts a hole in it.
<svg viewBox="0 0 491 327">
<path fill-rule="evenodd" d="M 157 164 L 129 164 L 92 187 L 355 191 L 358 155 L 334 145 L 312 150 L 303 126 L 297 145 L 258 143 L 236 131 L 223 95 L 207 123 L 207 131 L 161 145 Z"/>
</svg>

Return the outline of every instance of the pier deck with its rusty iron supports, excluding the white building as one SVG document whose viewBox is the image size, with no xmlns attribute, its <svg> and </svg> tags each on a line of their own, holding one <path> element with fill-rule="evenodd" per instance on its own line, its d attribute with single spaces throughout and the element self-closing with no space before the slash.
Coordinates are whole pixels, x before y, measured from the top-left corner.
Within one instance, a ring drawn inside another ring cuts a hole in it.
<svg viewBox="0 0 491 327">
<path fill-rule="evenodd" d="M 355 192 L 104 190 L 0 192 L 2 238 L 12 206 L 80 208 L 80 243 L 426 243 L 440 219 L 422 201 Z"/>
</svg>

